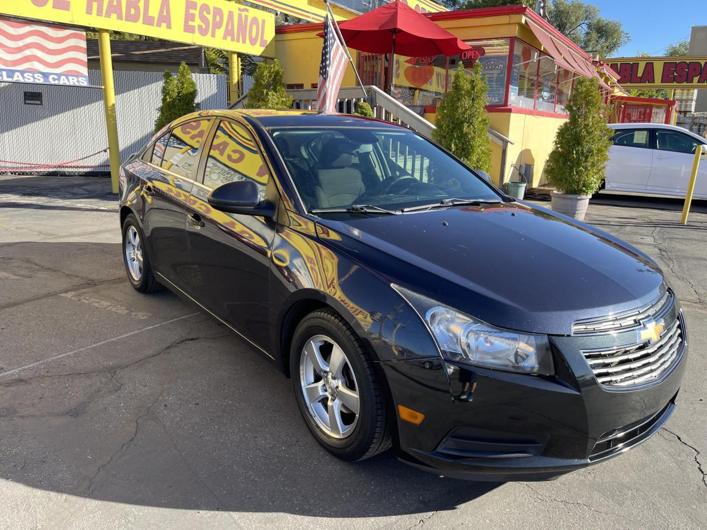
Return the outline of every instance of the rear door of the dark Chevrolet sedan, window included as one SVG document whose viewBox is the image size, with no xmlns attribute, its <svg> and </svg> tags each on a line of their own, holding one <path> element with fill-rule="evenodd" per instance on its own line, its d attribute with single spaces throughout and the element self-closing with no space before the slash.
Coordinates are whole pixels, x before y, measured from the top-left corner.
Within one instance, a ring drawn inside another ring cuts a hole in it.
<svg viewBox="0 0 707 530">
<path fill-rule="evenodd" d="M 207 119 L 168 131 L 155 143 L 153 171 L 144 184 L 143 230 L 154 269 L 182 288 L 187 279 L 187 199 L 197 175 L 199 149 L 209 131 Z"/>
</svg>

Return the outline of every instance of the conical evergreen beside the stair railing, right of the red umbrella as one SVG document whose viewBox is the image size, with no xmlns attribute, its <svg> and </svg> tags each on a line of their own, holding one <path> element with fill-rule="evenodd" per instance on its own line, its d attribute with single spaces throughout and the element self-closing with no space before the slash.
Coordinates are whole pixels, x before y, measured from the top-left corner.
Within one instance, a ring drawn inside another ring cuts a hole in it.
<svg viewBox="0 0 707 530">
<path fill-rule="evenodd" d="M 481 63 L 474 63 L 469 72 L 458 64 L 452 86 L 437 107 L 437 128 L 432 133 L 440 146 L 467 165 L 485 172 L 491 171 L 491 146 L 486 134 L 489 114 L 484 108 L 488 91 L 486 78 L 481 74 Z"/>
</svg>

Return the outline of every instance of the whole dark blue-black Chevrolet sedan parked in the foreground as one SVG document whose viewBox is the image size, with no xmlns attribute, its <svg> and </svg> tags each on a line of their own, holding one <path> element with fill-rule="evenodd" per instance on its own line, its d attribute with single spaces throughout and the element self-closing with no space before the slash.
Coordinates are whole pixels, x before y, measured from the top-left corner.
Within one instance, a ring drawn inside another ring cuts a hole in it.
<svg viewBox="0 0 707 530">
<path fill-rule="evenodd" d="M 122 165 L 127 276 L 262 352 L 344 460 L 527 481 L 647 440 L 687 349 L 660 268 L 484 176 L 375 119 L 189 114 Z"/>
</svg>

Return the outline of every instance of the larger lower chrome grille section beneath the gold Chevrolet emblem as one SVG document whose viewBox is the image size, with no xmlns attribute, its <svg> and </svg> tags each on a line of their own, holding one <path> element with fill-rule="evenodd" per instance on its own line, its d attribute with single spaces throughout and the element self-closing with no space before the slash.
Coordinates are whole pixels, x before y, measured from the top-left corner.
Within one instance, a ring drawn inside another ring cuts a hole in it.
<svg viewBox="0 0 707 530">
<path fill-rule="evenodd" d="M 680 319 L 676 318 L 654 343 L 582 353 L 600 384 L 631 387 L 658 379 L 674 365 L 682 349 L 682 327 Z"/>
</svg>

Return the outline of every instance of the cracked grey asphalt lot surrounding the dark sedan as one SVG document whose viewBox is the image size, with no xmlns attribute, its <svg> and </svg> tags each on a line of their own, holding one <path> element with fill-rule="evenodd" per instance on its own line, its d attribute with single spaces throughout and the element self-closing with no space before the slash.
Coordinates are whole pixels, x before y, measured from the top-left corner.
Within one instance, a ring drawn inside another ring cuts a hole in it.
<svg viewBox="0 0 707 530">
<path fill-rule="evenodd" d="M 288 379 L 206 314 L 125 279 L 101 177 L 0 177 L 0 529 L 705 529 L 707 208 L 592 200 L 682 300 L 677 410 L 545 483 L 359 464 L 309 435 Z M 529 278 L 532 281 L 532 278 Z"/>
</svg>

